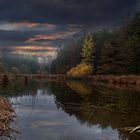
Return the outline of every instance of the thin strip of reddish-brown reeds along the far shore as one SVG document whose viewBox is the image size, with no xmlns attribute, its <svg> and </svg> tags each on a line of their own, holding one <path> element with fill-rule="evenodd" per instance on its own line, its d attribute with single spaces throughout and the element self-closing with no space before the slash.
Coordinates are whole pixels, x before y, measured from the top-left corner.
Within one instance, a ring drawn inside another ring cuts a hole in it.
<svg viewBox="0 0 140 140">
<path fill-rule="evenodd" d="M 3 74 L 4 75 L 4 74 Z M 11 81 L 14 75 L 7 75 Z M 17 78 L 23 80 L 48 80 L 48 81 L 65 81 L 65 80 L 78 80 L 78 81 L 91 81 L 96 83 L 114 84 L 114 85 L 135 85 L 140 86 L 140 75 L 92 75 L 84 77 L 68 77 L 65 74 L 18 74 Z M 1 82 L 3 81 L 2 75 L 0 76 Z"/>
</svg>

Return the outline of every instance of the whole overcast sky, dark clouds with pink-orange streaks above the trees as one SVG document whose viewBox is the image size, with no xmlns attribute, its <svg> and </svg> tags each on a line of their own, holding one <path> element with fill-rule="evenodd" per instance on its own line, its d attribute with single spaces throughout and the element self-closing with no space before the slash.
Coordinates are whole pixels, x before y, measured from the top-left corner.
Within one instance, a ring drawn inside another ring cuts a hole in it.
<svg viewBox="0 0 140 140">
<path fill-rule="evenodd" d="M 138 9 L 138 0 L 0 0 L 0 49 L 54 56 L 75 36 L 118 27 Z"/>
</svg>

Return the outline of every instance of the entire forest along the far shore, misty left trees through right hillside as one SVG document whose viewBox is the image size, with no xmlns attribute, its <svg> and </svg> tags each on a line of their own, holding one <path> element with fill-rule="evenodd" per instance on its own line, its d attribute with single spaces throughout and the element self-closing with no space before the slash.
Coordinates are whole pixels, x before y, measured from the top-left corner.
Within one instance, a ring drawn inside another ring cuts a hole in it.
<svg viewBox="0 0 140 140">
<path fill-rule="evenodd" d="M 51 63 L 2 52 L 0 73 L 50 73 L 71 77 L 140 74 L 140 12 L 119 28 L 85 33 L 61 47 Z"/>
</svg>

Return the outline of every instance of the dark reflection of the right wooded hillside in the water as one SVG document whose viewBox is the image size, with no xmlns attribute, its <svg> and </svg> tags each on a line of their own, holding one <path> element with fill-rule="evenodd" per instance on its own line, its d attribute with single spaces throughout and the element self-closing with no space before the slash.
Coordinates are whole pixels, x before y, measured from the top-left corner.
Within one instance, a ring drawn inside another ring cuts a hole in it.
<svg viewBox="0 0 140 140">
<path fill-rule="evenodd" d="M 84 85 L 78 81 L 65 85 L 54 83 L 51 90 L 56 105 L 81 123 L 114 129 L 140 124 L 140 92 Z M 121 138 L 130 139 L 123 132 L 119 133 Z"/>
</svg>

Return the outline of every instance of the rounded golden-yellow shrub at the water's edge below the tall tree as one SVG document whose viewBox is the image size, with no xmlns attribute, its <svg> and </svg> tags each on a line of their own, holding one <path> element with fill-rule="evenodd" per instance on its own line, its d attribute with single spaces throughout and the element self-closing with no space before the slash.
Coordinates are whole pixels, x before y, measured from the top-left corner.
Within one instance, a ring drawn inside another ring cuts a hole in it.
<svg viewBox="0 0 140 140">
<path fill-rule="evenodd" d="M 89 76 L 92 74 L 93 66 L 91 64 L 81 63 L 77 65 L 76 67 L 73 67 L 67 72 L 67 76 L 78 78 L 78 77 L 84 77 Z"/>
</svg>

